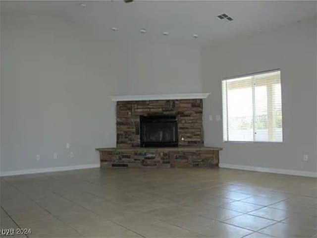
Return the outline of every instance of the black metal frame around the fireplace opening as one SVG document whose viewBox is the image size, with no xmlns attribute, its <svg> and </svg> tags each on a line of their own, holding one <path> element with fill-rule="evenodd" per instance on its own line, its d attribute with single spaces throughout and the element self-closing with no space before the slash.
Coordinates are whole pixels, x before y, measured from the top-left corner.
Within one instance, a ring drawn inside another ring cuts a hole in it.
<svg viewBox="0 0 317 238">
<path fill-rule="evenodd" d="M 146 123 L 175 122 L 175 141 L 168 142 L 149 142 L 144 141 L 143 133 Z M 140 147 L 177 147 L 178 146 L 178 123 L 175 115 L 151 115 L 140 116 Z"/>
</svg>

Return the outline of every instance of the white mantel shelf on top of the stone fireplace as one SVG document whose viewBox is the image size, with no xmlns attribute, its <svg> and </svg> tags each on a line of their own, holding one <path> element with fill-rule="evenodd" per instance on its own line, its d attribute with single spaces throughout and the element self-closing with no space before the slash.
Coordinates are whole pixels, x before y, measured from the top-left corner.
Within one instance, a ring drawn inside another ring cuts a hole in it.
<svg viewBox="0 0 317 238">
<path fill-rule="evenodd" d="M 176 94 L 139 94 L 110 96 L 114 102 L 122 101 L 148 101 L 148 100 L 176 100 L 176 99 L 204 99 L 210 93 L 176 93 Z"/>
</svg>

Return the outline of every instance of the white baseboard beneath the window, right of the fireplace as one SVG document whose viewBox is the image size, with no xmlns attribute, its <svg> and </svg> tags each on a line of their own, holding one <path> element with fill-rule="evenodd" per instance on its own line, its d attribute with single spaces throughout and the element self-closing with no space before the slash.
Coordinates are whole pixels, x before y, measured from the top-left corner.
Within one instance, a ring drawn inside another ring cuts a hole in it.
<svg viewBox="0 0 317 238">
<path fill-rule="evenodd" d="M 282 170 L 282 169 L 273 169 L 273 168 L 264 168 L 264 167 L 254 167 L 254 166 L 245 166 L 245 165 L 232 165 L 232 164 L 219 164 L 220 168 L 235 169 L 235 170 L 249 170 L 273 174 L 283 174 L 283 175 L 295 175 L 295 176 L 305 176 L 317 178 L 317 173 L 309 171 L 300 171 L 300 170 Z"/>
</svg>

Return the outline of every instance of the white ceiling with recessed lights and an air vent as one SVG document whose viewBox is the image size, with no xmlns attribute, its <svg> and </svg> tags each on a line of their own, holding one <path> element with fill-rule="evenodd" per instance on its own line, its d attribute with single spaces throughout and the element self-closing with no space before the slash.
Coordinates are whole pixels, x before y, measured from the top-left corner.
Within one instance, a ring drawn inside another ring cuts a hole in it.
<svg viewBox="0 0 317 238">
<path fill-rule="evenodd" d="M 52 15 L 105 40 L 201 46 L 316 17 L 316 1 L 1 1 L 1 14 Z M 219 19 L 226 13 L 233 21 Z M 114 31 L 111 28 L 116 28 Z M 140 33 L 140 29 L 146 33 Z M 163 32 L 167 32 L 168 35 Z M 196 34 L 198 38 L 194 38 Z"/>
</svg>

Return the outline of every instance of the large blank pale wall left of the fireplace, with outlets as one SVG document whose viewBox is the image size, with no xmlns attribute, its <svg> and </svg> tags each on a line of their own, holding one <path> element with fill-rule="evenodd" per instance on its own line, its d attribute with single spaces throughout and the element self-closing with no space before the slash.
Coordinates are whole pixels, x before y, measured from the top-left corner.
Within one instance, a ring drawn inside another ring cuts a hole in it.
<svg viewBox="0 0 317 238">
<path fill-rule="evenodd" d="M 112 52 L 70 23 L 1 16 L 1 171 L 95 164 L 115 145 Z"/>
</svg>

